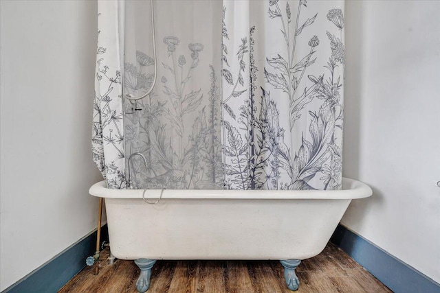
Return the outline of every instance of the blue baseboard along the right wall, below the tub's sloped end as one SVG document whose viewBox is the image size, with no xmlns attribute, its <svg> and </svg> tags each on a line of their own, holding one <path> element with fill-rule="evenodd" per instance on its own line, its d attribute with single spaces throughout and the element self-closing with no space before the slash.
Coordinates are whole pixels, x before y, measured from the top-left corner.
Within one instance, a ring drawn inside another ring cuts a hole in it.
<svg viewBox="0 0 440 293">
<path fill-rule="evenodd" d="M 396 293 L 440 293 L 440 284 L 382 248 L 338 225 L 331 242 Z"/>
</svg>

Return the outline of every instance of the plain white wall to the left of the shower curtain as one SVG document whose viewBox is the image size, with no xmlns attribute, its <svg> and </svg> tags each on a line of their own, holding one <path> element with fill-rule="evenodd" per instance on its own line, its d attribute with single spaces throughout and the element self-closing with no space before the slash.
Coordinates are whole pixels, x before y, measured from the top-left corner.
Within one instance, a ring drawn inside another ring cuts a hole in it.
<svg viewBox="0 0 440 293">
<path fill-rule="evenodd" d="M 96 228 L 96 1 L 0 1 L 0 291 Z"/>
</svg>

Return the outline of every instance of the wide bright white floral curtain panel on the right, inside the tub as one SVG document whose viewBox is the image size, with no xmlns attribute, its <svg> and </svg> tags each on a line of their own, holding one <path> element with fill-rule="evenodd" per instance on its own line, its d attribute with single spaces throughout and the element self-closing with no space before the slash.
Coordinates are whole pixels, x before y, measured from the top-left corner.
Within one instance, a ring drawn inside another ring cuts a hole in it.
<svg viewBox="0 0 440 293">
<path fill-rule="evenodd" d="M 340 188 L 343 5 L 224 1 L 227 187 Z"/>
</svg>

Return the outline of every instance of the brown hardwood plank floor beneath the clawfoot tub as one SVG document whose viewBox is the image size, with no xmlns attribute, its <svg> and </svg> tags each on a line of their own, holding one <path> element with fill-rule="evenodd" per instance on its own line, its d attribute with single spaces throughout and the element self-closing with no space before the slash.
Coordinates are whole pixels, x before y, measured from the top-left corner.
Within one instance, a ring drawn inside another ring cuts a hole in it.
<svg viewBox="0 0 440 293">
<path fill-rule="evenodd" d="M 136 291 L 140 270 L 133 261 L 107 263 L 109 250 L 101 253 L 100 272 L 85 268 L 59 292 L 120 293 Z M 291 293 L 284 283 L 279 261 L 157 261 L 151 270 L 148 293 Z M 304 260 L 296 269 L 303 292 L 392 292 L 339 248 L 325 250 Z"/>
</svg>

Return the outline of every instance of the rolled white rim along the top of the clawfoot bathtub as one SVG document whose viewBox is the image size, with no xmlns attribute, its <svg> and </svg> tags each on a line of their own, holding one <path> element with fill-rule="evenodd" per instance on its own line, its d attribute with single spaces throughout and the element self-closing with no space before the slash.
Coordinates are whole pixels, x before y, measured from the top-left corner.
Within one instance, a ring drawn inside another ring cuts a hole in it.
<svg viewBox="0 0 440 293">
<path fill-rule="evenodd" d="M 276 200 L 276 199 L 357 199 L 373 194 L 371 188 L 358 180 L 342 178 L 342 190 L 228 190 L 224 189 L 165 189 L 162 199 L 230 199 L 230 200 Z M 91 196 L 100 198 L 142 199 L 144 189 L 109 189 L 105 180 L 92 185 Z M 146 199 L 159 198 L 162 189 L 148 189 Z"/>
</svg>

